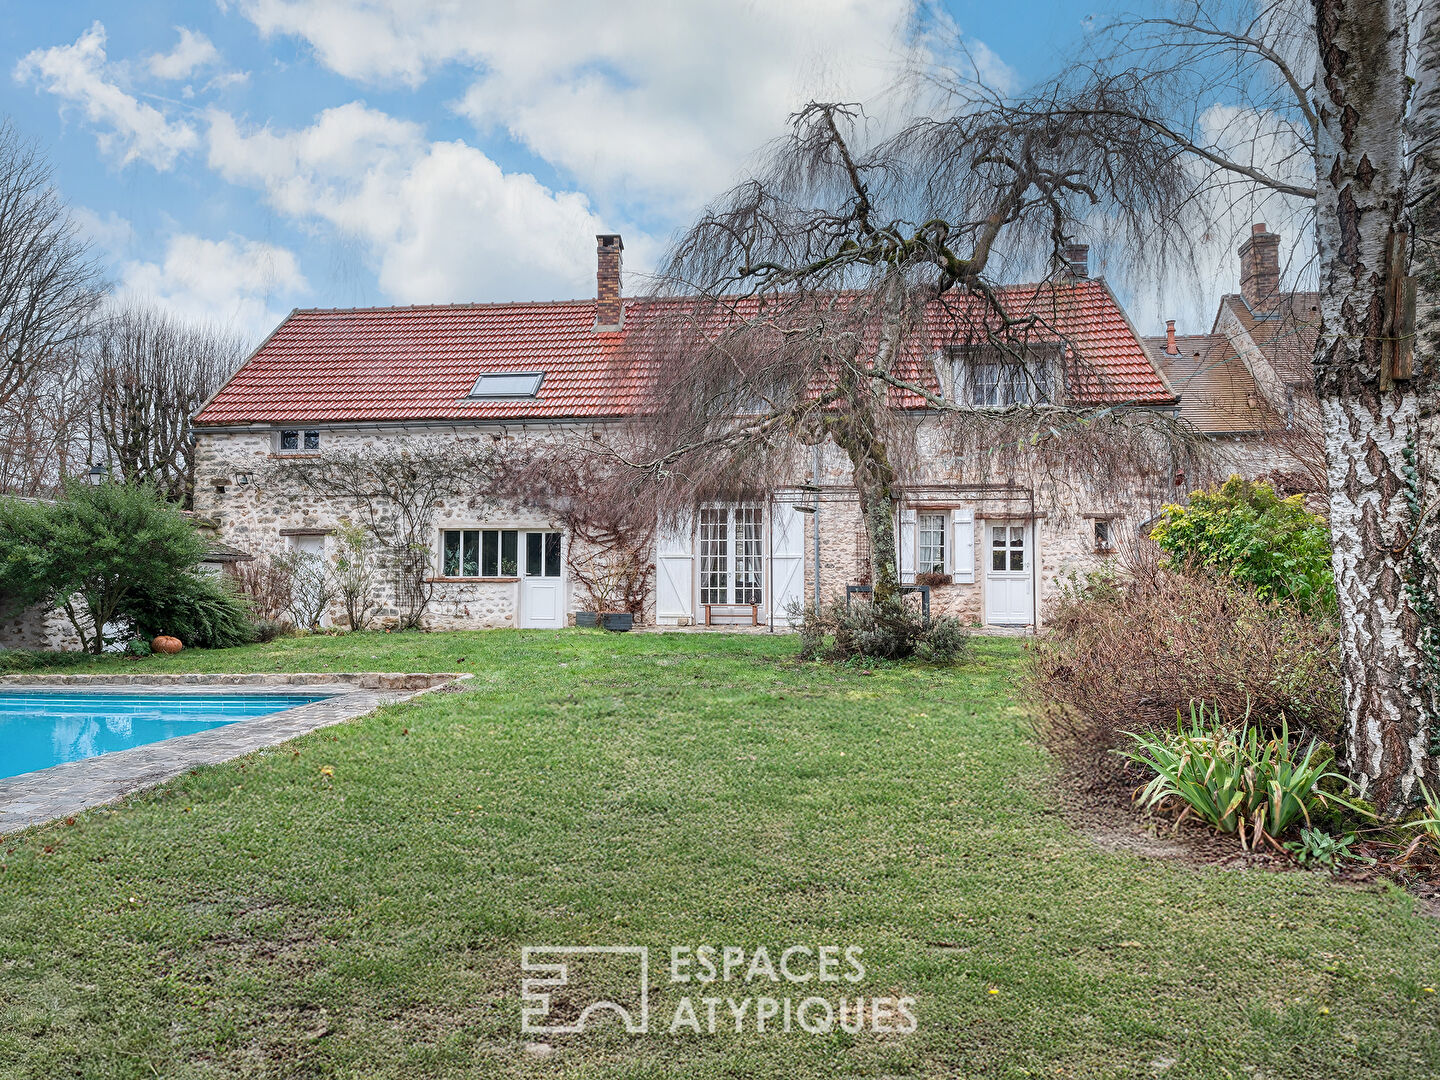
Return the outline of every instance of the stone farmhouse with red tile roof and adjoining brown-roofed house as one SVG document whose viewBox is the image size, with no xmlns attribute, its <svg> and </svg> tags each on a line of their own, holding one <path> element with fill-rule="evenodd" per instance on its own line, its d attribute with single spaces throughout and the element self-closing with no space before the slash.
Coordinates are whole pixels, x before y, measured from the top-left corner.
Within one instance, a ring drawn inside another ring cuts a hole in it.
<svg viewBox="0 0 1440 1080">
<path fill-rule="evenodd" d="M 1277 294 L 1274 239 L 1256 226 L 1241 249 L 1241 295 L 1225 297 L 1211 334 L 1158 340 L 1136 333 L 1074 246 L 1063 272 L 1002 295 L 1015 305 L 1043 300 L 1089 376 L 1037 361 L 1051 367 L 1022 383 L 984 357 L 937 354 L 926 377 L 978 409 L 1054 387 L 1122 409 L 1179 410 L 1231 446 L 1234 468 L 1284 468 L 1266 436 L 1299 408 L 1305 341 L 1282 331 L 1305 314 L 1306 294 Z M 353 508 L 287 487 L 275 462 L 405 444 L 588 438 L 624 422 L 647 386 L 645 364 L 622 348 L 626 312 L 634 323 L 635 305 L 651 301 L 621 297 L 621 251 L 619 236 L 598 238 L 595 300 L 291 312 L 194 418 L 196 511 L 226 544 L 261 559 L 327 554 Z M 923 448 L 924 416 L 919 422 Z M 848 462 L 831 445 L 796 456 L 805 464 L 793 482 L 743 504 L 701 505 L 691 521 L 658 531 L 644 621 L 783 625 L 795 602 L 844 596 L 867 580 Z M 1117 477 L 1056 490 L 1034 475 L 976 480 L 936 448 L 904 488 L 901 579 L 924 583 L 935 612 L 1038 626 L 1064 573 L 1104 560 L 1125 530 L 1184 497 L 1187 478 L 1169 480 L 1171 462 L 1153 471 L 1166 481 L 1148 494 Z M 428 543 L 432 629 L 564 626 L 590 606 L 569 570 L 580 541 L 520 498 L 448 500 L 435 508 Z M 377 602 L 383 624 L 396 598 Z"/>
</svg>

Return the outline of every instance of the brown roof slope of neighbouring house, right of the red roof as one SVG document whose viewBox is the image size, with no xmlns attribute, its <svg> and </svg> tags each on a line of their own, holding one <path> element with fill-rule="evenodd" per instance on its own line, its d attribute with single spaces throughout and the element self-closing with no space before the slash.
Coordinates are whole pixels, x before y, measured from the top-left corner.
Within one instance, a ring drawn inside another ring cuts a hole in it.
<svg viewBox="0 0 1440 1080">
<path fill-rule="evenodd" d="M 1145 344 L 1179 395 L 1179 415 L 1207 435 L 1283 426 L 1224 334 L 1176 336 L 1178 356 L 1165 351 L 1164 337 Z"/>
</svg>

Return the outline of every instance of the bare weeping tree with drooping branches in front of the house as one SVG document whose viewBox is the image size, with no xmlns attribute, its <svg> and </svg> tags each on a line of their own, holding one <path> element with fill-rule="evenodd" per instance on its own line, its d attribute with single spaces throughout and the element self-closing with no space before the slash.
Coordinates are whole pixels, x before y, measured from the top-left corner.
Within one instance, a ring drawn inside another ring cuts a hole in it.
<svg viewBox="0 0 1440 1080">
<path fill-rule="evenodd" d="M 793 480 L 799 448 L 831 442 L 876 600 L 893 602 L 897 500 L 923 480 L 922 439 L 959 468 L 1057 481 L 1169 484 L 1197 456 L 1194 432 L 1128 408 L 1143 403 L 1071 340 L 1063 261 L 1096 215 L 1142 243 L 1188 180 L 1146 125 L 1053 89 L 1044 108 L 975 98 L 884 135 L 855 105 L 814 102 L 680 238 L 668 295 L 634 305 L 628 338 L 652 399 L 626 461 L 668 481 L 672 510 Z M 1027 271 L 1041 282 L 998 284 Z M 973 408 L 976 367 L 1005 387 L 1001 408 Z"/>
</svg>

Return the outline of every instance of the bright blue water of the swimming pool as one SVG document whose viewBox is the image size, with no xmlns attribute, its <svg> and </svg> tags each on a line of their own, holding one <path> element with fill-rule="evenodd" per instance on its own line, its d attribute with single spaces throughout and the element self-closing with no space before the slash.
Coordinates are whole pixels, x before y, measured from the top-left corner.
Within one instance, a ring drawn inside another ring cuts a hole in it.
<svg viewBox="0 0 1440 1080">
<path fill-rule="evenodd" d="M 0 690 L 0 776 L 158 743 L 324 697 Z"/>
</svg>

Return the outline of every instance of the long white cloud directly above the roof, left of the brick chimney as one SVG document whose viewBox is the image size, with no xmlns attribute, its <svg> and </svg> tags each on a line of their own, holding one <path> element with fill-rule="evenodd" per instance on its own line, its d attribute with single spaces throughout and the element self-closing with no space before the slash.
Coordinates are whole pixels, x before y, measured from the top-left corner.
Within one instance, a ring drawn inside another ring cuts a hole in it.
<svg viewBox="0 0 1440 1080">
<path fill-rule="evenodd" d="M 464 141 L 426 141 L 360 102 L 292 131 L 242 131 L 212 111 L 209 163 L 288 217 L 359 240 L 402 302 L 590 295 L 593 238 L 609 230 L 583 194 L 505 173 Z M 631 235 L 628 249 L 635 266 L 654 245 Z"/>
</svg>

